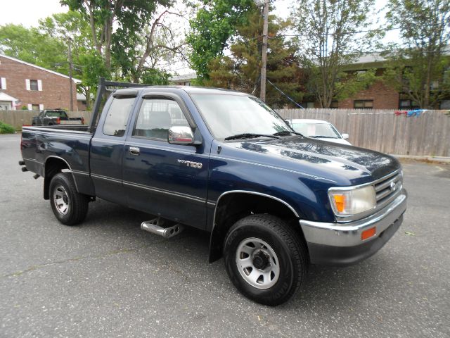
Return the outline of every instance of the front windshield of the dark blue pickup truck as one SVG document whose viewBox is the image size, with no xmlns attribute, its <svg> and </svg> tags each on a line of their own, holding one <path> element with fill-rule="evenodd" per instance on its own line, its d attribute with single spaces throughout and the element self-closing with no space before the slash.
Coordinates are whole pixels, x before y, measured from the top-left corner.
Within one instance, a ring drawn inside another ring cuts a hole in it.
<svg viewBox="0 0 450 338">
<path fill-rule="evenodd" d="M 252 96 L 192 94 L 210 132 L 217 139 L 236 134 L 266 134 L 290 131 L 269 106 Z"/>
</svg>

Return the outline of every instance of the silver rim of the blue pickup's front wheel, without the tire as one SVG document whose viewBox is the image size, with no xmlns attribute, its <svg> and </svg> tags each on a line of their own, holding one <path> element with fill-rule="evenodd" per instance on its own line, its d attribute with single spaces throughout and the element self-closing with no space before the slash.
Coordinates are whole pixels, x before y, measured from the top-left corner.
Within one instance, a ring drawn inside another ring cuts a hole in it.
<svg viewBox="0 0 450 338">
<path fill-rule="evenodd" d="M 236 266 L 245 282 L 257 289 L 273 287 L 280 277 L 280 263 L 274 249 L 256 237 L 239 243 Z"/>
</svg>

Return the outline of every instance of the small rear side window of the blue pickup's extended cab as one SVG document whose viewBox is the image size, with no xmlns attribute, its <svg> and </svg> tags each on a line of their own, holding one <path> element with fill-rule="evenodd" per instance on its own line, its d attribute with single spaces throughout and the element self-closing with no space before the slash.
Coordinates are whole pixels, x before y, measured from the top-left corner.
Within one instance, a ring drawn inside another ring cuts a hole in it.
<svg viewBox="0 0 450 338">
<path fill-rule="evenodd" d="M 134 97 L 113 99 L 113 103 L 108 110 L 108 115 L 106 115 L 105 123 L 103 124 L 103 134 L 119 137 L 124 136 L 134 99 Z"/>
</svg>

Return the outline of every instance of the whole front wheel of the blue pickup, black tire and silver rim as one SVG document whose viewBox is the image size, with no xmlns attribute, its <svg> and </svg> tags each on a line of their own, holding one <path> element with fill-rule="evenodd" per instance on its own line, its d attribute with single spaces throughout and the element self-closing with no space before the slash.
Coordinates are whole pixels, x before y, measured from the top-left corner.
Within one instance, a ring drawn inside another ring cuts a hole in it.
<svg viewBox="0 0 450 338">
<path fill-rule="evenodd" d="M 250 244 L 256 244 L 254 251 L 245 253 L 252 249 Z M 258 244 L 262 246 L 260 249 Z M 252 258 L 253 268 L 242 268 L 245 264 L 238 263 L 238 259 L 248 258 L 245 255 Z M 256 256 L 261 256 L 262 261 L 255 261 Z M 249 215 L 230 228 L 224 242 L 224 261 L 236 288 L 249 299 L 269 306 L 284 303 L 298 292 L 309 265 L 306 245 L 300 235 L 280 218 L 266 214 Z M 260 265 L 261 262 L 266 265 Z M 265 268 L 260 270 L 255 266 Z M 255 275 L 261 274 L 256 282 L 251 278 L 254 268 Z M 269 277 L 262 275 L 264 271 Z"/>
</svg>

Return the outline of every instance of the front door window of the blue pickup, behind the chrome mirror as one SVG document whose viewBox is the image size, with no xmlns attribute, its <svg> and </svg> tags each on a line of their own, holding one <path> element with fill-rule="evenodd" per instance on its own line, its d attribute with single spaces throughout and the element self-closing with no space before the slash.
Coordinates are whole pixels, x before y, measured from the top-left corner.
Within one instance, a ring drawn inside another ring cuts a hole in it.
<svg viewBox="0 0 450 338">
<path fill-rule="evenodd" d="M 169 128 L 188 126 L 180 106 L 171 99 L 144 99 L 133 130 L 133 136 L 167 141 Z"/>
</svg>

